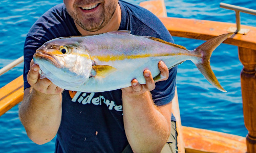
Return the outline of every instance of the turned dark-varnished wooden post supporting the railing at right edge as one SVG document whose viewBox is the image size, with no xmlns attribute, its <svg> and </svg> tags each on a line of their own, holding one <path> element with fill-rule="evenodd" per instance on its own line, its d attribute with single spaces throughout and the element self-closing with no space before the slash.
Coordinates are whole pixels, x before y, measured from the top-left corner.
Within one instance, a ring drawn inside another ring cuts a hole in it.
<svg viewBox="0 0 256 153">
<path fill-rule="evenodd" d="M 241 89 L 243 98 L 244 123 L 249 131 L 246 136 L 247 152 L 256 152 L 256 50 L 238 48 L 243 64 Z"/>
</svg>

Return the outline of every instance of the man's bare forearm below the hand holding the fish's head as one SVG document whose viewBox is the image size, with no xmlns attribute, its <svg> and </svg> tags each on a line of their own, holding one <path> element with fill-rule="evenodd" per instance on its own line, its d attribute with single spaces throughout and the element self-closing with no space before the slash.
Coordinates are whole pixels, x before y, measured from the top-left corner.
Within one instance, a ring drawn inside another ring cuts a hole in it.
<svg viewBox="0 0 256 153">
<path fill-rule="evenodd" d="M 29 138 L 37 144 L 51 141 L 61 120 L 61 94 L 44 94 L 25 89 L 19 106 L 19 118 Z"/>
</svg>

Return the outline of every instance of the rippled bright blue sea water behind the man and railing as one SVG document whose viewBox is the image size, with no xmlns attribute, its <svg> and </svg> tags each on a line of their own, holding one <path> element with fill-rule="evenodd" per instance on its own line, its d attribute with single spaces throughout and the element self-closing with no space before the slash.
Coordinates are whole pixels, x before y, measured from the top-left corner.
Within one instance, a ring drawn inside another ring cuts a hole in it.
<svg viewBox="0 0 256 153">
<path fill-rule="evenodd" d="M 139 4 L 143 0 L 127 0 Z M 61 3 L 52 1 L 3 0 L 0 2 L 0 68 L 23 55 L 23 45 L 31 25 L 45 11 Z M 234 11 L 222 9 L 227 3 L 256 9 L 254 0 L 165 0 L 170 17 L 236 22 Z M 241 13 L 241 23 L 256 26 L 256 17 Z M 204 41 L 174 37 L 175 43 L 194 49 Z M 235 134 L 245 137 L 240 72 L 237 47 L 221 44 L 212 54 L 211 67 L 221 85 L 222 93 L 212 87 L 192 62 L 178 66 L 177 88 L 182 125 Z M 23 64 L 0 76 L 3 87 L 23 73 Z M 1 94 L 1 93 L 0 93 Z M 54 140 L 34 144 L 18 119 L 18 106 L 0 117 L 0 152 L 53 152 Z"/>
</svg>

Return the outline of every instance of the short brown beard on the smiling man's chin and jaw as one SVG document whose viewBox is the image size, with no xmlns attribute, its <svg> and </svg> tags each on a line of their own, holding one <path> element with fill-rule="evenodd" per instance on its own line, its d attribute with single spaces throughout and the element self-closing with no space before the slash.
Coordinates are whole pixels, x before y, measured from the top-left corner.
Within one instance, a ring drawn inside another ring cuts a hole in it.
<svg viewBox="0 0 256 153">
<path fill-rule="evenodd" d="M 69 12 L 73 20 L 83 29 L 90 32 L 95 32 L 109 23 L 115 13 L 117 3 L 111 3 L 108 6 L 104 5 L 103 12 L 98 19 L 95 17 L 87 16 L 86 18 L 79 19 L 77 12 Z"/>
</svg>

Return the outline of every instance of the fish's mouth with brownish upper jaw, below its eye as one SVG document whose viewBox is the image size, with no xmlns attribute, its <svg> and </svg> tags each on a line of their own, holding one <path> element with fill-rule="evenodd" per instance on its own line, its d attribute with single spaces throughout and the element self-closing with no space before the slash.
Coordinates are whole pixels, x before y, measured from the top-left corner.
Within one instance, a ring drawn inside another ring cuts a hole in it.
<svg viewBox="0 0 256 153">
<path fill-rule="evenodd" d="M 45 50 L 36 50 L 34 57 L 49 61 L 58 68 L 62 68 L 65 62 L 62 56 L 53 55 Z"/>
</svg>

